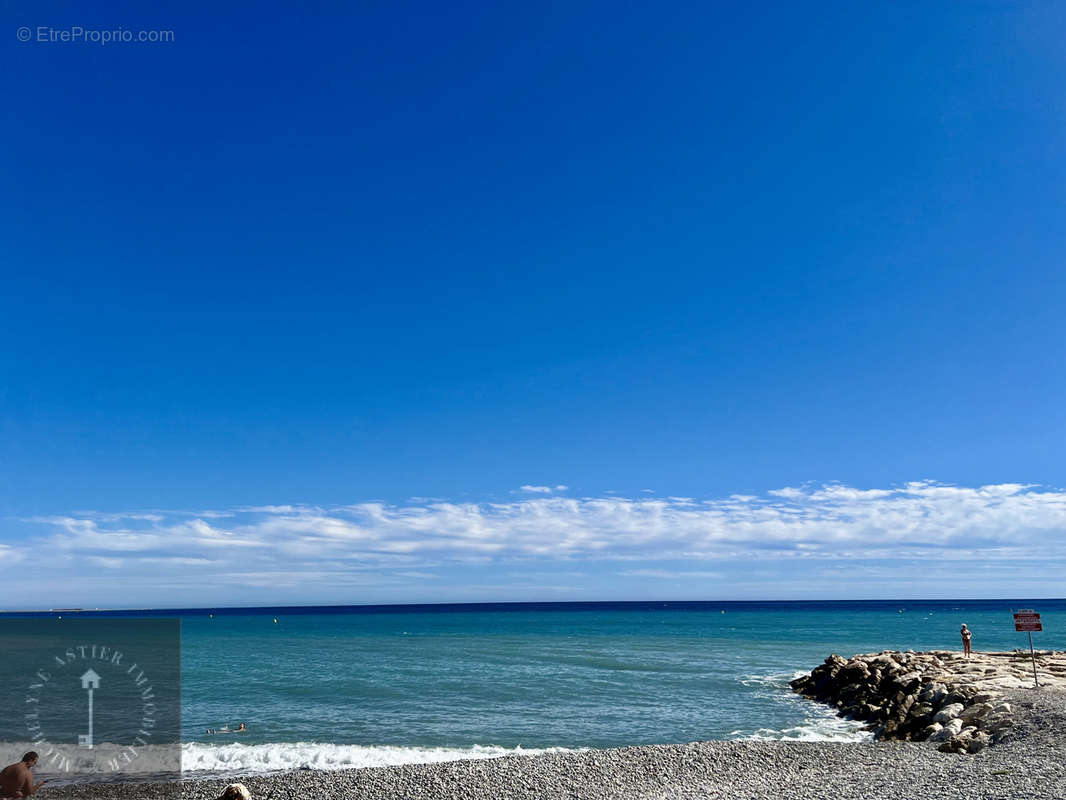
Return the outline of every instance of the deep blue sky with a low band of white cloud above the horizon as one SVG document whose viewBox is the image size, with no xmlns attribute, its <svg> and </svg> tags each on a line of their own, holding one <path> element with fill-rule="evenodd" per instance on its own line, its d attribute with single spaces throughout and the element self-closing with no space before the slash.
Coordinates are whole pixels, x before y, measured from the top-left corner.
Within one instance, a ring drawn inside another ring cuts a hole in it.
<svg viewBox="0 0 1066 800">
<path fill-rule="evenodd" d="M 0 605 L 1063 594 L 1062 6 L 4 11 Z"/>
</svg>

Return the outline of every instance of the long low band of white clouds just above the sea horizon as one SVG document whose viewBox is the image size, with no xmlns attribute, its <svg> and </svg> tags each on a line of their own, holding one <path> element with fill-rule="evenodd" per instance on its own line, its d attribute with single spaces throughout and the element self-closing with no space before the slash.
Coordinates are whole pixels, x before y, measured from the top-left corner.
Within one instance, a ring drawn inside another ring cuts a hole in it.
<svg viewBox="0 0 1066 800">
<path fill-rule="evenodd" d="M 906 580 L 915 563 L 944 572 L 951 563 L 996 560 L 1035 573 L 1066 558 L 1066 491 L 1020 483 L 834 483 L 712 499 L 522 490 L 534 496 L 39 516 L 22 521 L 30 530 L 17 535 L 30 551 L 49 554 L 56 586 L 104 567 L 124 586 L 157 586 L 151 577 L 162 572 L 160 587 L 400 587 L 423 575 L 447 578 L 440 569 L 448 565 L 559 571 L 560 562 L 582 561 L 633 563 L 626 575 L 645 578 L 717 577 L 733 561 L 878 561 Z M 0 543 L 0 562 L 20 550 Z M 685 566 L 658 569 L 669 560 Z"/>
</svg>

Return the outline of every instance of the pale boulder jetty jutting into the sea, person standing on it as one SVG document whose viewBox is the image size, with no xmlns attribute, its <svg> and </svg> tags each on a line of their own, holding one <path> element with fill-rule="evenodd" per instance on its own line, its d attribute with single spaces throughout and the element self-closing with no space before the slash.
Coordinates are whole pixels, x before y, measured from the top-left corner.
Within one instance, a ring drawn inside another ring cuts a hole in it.
<svg viewBox="0 0 1066 800">
<path fill-rule="evenodd" d="M 1048 689 L 1066 689 L 1066 652 L 1036 654 Z M 792 682 L 805 697 L 835 705 L 841 716 L 868 721 L 881 739 L 933 741 L 938 750 L 976 753 L 1011 736 L 1015 718 L 1005 694 L 1033 686 L 1029 651 L 915 653 L 884 651 L 825 663 Z"/>
</svg>

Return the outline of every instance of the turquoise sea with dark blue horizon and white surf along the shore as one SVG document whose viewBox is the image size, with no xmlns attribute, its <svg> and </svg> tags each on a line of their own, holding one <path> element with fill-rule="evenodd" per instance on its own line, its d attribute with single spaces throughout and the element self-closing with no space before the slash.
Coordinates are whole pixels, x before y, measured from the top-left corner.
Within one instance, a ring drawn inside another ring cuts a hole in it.
<svg viewBox="0 0 1066 800">
<path fill-rule="evenodd" d="M 1037 649 L 1066 650 L 1064 599 L 2 613 L 0 646 L 7 638 L 9 652 L 0 658 L 0 697 L 23 703 L 32 673 L 5 635 L 9 620 L 32 620 L 12 624 L 52 635 L 72 629 L 62 628 L 72 621 L 169 619 L 180 639 L 173 656 L 180 659 L 180 721 L 151 747 L 172 739 L 185 777 L 709 739 L 857 741 L 870 734 L 792 693 L 789 682 L 831 653 L 959 650 L 964 622 L 974 650 L 1028 651 L 1012 618 L 1022 608 L 1041 613 Z M 20 709 L 9 708 L 0 724 L 5 763 L 27 745 Z M 64 714 L 81 718 L 72 707 Z"/>
</svg>

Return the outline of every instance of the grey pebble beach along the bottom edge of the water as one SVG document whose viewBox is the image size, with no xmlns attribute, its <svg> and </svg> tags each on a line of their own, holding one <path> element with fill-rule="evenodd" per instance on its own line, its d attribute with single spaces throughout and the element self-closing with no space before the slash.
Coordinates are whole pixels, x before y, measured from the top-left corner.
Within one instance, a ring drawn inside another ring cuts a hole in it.
<svg viewBox="0 0 1066 800">
<path fill-rule="evenodd" d="M 1007 697 L 1014 730 L 974 755 L 931 742 L 706 741 L 239 780 L 257 800 L 1066 798 L 1066 693 L 1015 689 Z M 42 797 L 214 800 L 228 782 L 70 786 Z"/>
</svg>

